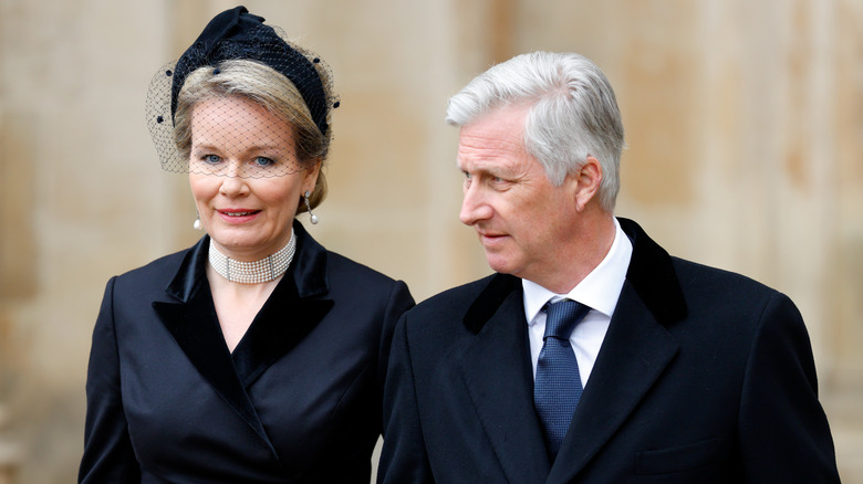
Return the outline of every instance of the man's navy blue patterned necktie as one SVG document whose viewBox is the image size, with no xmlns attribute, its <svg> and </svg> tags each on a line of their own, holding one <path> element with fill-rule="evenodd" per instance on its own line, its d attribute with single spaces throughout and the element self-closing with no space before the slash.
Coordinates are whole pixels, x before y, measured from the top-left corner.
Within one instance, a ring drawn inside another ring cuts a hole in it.
<svg viewBox="0 0 863 484">
<path fill-rule="evenodd" d="M 590 307 L 571 299 L 545 306 L 545 335 L 537 362 L 533 406 L 542 421 L 552 462 L 558 456 L 582 392 L 579 362 L 570 345 L 570 335 L 590 311 Z"/>
</svg>

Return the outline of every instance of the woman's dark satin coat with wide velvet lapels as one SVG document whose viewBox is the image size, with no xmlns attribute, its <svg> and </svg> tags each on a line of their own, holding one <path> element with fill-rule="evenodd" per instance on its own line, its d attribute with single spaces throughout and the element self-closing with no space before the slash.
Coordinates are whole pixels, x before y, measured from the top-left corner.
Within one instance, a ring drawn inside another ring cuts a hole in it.
<svg viewBox="0 0 863 484">
<path fill-rule="evenodd" d="M 209 238 L 112 278 L 87 373 L 85 483 L 368 483 L 402 282 L 297 253 L 235 351 L 205 275 Z"/>
</svg>

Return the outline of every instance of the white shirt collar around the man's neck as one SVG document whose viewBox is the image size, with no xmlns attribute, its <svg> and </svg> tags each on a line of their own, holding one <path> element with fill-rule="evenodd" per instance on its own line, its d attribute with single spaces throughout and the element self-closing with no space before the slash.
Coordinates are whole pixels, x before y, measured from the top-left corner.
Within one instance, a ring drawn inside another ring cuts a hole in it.
<svg viewBox="0 0 863 484">
<path fill-rule="evenodd" d="M 542 306 L 554 297 L 576 301 L 611 318 L 614 307 L 617 306 L 617 298 L 626 280 L 626 270 L 632 257 L 632 242 L 621 229 L 617 219 L 614 219 L 614 242 L 609 253 L 600 265 L 568 294 L 557 294 L 532 281 L 521 280 L 524 290 L 524 317 L 528 319 L 528 325 L 534 323 Z"/>
</svg>

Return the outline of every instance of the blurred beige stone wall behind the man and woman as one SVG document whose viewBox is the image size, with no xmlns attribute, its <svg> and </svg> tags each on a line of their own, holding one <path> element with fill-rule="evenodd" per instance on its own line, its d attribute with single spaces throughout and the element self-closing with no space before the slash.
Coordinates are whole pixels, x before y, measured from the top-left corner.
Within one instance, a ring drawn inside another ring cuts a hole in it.
<svg viewBox="0 0 863 484">
<path fill-rule="evenodd" d="M 200 235 L 144 97 L 236 4 L 0 0 L 0 484 L 74 481 L 105 282 Z M 458 222 L 447 98 L 517 53 L 594 60 L 627 134 L 617 213 L 794 299 L 843 482 L 863 483 L 863 0 L 245 4 L 321 54 L 342 96 L 311 232 L 417 299 L 489 272 Z"/>
</svg>

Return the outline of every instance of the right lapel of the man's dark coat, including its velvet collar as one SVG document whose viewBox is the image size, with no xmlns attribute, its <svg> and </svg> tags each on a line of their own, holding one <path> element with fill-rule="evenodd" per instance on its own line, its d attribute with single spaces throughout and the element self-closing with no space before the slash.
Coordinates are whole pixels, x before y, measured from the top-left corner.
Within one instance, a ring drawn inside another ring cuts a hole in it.
<svg viewBox="0 0 863 484">
<path fill-rule="evenodd" d="M 678 350 L 666 327 L 686 316 L 686 304 L 672 259 L 635 222 L 620 222 L 633 242 L 626 281 L 548 483 L 575 478 Z"/>
</svg>

